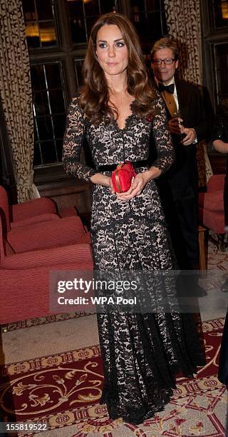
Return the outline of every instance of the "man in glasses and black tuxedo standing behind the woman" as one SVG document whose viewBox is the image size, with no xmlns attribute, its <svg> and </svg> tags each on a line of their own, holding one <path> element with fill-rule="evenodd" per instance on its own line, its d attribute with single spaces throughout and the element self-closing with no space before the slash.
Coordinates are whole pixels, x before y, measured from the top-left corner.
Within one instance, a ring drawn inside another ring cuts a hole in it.
<svg viewBox="0 0 228 437">
<path fill-rule="evenodd" d="M 157 184 L 178 266 L 189 270 L 199 268 L 196 147 L 208 137 L 209 123 L 202 92 L 175 77 L 178 63 L 179 51 L 173 39 L 155 42 L 151 51 L 154 86 L 165 102 L 175 147 L 175 164 Z"/>
</svg>

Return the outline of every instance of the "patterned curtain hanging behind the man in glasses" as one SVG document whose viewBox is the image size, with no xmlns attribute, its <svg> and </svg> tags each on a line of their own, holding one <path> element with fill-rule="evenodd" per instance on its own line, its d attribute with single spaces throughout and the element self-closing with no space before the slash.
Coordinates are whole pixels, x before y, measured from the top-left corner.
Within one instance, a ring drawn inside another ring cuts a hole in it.
<svg viewBox="0 0 228 437">
<path fill-rule="evenodd" d="M 164 0 L 167 29 L 180 43 L 180 78 L 202 85 L 202 41 L 199 0 Z M 199 186 L 205 186 L 212 167 L 207 156 L 207 144 L 197 147 Z"/>
</svg>

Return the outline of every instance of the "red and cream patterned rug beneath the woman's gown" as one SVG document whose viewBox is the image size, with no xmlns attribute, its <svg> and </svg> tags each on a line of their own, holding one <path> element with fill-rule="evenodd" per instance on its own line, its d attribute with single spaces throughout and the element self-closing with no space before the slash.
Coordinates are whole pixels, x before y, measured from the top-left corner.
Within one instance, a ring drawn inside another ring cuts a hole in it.
<svg viewBox="0 0 228 437">
<path fill-rule="evenodd" d="M 50 436 L 63 427 L 66 434 L 59 435 L 72 437 L 225 436 L 227 391 L 216 377 L 223 323 L 222 318 L 203 323 L 207 364 L 197 378 L 178 378 L 165 410 L 142 425 L 112 421 L 99 405 L 99 346 L 1 366 L 0 405 L 7 421 L 42 423 Z"/>
</svg>

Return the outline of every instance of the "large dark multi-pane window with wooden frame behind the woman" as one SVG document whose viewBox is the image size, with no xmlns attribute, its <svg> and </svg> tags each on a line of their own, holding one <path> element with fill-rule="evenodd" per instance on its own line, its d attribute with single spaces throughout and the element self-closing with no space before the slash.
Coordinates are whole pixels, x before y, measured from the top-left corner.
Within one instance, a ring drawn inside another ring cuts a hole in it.
<svg viewBox="0 0 228 437">
<path fill-rule="evenodd" d="M 22 0 L 22 4 L 31 61 L 37 174 L 45 166 L 61 166 L 68 103 L 83 82 L 81 67 L 98 16 L 114 10 L 129 16 L 145 54 L 167 28 L 162 0 Z"/>
</svg>

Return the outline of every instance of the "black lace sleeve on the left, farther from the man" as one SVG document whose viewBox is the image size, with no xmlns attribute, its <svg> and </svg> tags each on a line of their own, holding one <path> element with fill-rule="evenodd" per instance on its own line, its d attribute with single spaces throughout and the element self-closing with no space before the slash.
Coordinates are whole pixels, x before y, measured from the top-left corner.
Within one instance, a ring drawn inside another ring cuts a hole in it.
<svg viewBox="0 0 228 437">
<path fill-rule="evenodd" d="M 85 117 L 79 106 L 78 99 L 73 99 L 69 106 L 66 131 L 63 138 L 63 168 L 66 173 L 90 182 L 90 177 L 96 171 L 80 162 L 81 147 L 86 131 Z"/>
</svg>

